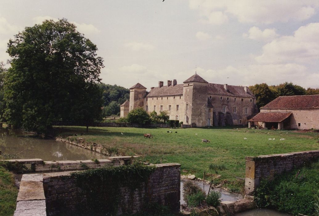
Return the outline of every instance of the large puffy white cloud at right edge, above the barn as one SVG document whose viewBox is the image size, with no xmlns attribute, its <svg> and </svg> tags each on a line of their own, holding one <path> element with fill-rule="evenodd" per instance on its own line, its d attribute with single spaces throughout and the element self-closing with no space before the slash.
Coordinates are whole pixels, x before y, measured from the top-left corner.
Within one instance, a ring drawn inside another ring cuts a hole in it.
<svg viewBox="0 0 319 216">
<path fill-rule="evenodd" d="M 302 26 L 291 36 L 281 36 L 263 46 L 259 63 L 311 62 L 319 59 L 319 23 Z"/>
</svg>

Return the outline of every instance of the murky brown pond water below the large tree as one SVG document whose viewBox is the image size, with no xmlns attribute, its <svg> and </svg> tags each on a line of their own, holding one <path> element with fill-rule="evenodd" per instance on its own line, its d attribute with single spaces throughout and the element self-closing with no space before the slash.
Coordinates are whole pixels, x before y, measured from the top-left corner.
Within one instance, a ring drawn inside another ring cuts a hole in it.
<svg viewBox="0 0 319 216">
<path fill-rule="evenodd" d="M 0 130 L 2 154 L 17 154 L 17 158 L 43 160 L 103 159 L 107 156 L 56 140 L 27 136 L 19 130 Z"/>
</svg>

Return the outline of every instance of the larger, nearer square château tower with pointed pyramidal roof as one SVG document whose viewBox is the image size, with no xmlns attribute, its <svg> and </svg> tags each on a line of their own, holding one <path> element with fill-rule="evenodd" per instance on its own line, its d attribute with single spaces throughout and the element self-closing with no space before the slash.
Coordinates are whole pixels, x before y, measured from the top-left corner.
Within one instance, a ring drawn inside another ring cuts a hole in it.
<svg viewBox="0 0 319 216">
<path fill-rule="evenodd" d="M 208 82 L 195 73 L 183 83 L 183 98 L 186 104 L 184 122 L 195 127 L 207 126 Z"/>
</svg>

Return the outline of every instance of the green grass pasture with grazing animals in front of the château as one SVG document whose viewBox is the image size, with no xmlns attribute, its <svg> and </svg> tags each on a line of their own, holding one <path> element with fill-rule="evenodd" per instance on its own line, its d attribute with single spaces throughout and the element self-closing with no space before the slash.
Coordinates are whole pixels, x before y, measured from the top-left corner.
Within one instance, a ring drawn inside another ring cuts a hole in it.
<svg viewBox="0 0 319 216">
<path fill-rule="evenodd" d="M 315 131 L 275 131 L 247 128 L 132 128 L 132 127 L 94 127 L 89 133 L 85 127 L 63 126 L 62 136 L 84 138 L 112 149 L 121 155 L 139 155 L 150 163 L 180 163 L 182 174 L 195 174 L 203 178 L 203 173 L 220 174 L 227 180 L 229 188 L 239 189 L 245 177 L 245 156 L 288 153 L 319 149 L 319 134 Z M 177 131 L 177 133 L 174 133 Z M 123 133 L 123 135 L 121 134 Z M 144 138 L 151 133 L 153 138 Z M 196 135 L 197 134 L 197 135 Z M 247 140 L 244 140 L 244 137 Z M 201 143 L 201 139 L 210 143 Z M 268 140 L 275 138 L 275 140 Z M 280 141 L 280 138 L 285 140 Z M 212 169 L 210 169 L 210 167 Z M 219 167 L 219 168 L 218 168 Z M 234 186 L 232 186 L 234 183 Z"/>
</svg>

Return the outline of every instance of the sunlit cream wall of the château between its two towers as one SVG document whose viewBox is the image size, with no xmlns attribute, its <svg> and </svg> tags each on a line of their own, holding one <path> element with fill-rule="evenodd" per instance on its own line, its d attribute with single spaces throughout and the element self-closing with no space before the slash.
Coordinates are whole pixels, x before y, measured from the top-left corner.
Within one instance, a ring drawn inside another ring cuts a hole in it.
<svg viewBox="0 0 319 216">
<path fill-rule="evenodd" d="M 178 105 L 178 108 L 177 108 Z M 161 111 L 161 106 L 163 111 L 167 110 L 169 115 L 169 120 L 184 120 L 185 115 L 185 102 L 182 95 L 175 95 L 175 96 L 159 96 L 159 97 L 146 97 L 144 99 L 144 109 L 147 112 L 153 112 L 154 106 L 155 111 L 157 114 Z M 171 109 L 169 109 L 171 106 Z"/>
</svg>

